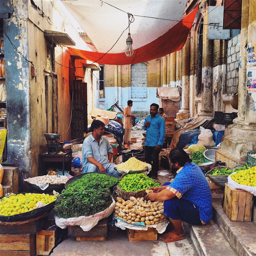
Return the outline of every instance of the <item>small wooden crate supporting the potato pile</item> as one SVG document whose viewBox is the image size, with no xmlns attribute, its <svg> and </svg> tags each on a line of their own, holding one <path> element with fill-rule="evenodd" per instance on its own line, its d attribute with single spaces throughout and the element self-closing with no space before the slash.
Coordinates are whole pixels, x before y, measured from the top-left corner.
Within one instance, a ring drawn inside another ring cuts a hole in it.
<svg viewBox="0 0 256 256">
<path fill-rule="evenodd" d="M 148 228 L 148 230 L 126 228 L 126 232 L 130 242 L 157 240 L 156 228 Z"/>
</svg>

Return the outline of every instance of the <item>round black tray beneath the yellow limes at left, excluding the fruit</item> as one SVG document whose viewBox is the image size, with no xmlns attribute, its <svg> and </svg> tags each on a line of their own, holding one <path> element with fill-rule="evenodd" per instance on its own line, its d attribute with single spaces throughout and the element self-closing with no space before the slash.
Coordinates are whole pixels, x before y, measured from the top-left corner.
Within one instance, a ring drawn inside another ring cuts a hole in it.
<svg viewBox="0 0 256 256">
<path fill-rule="evenodd" d="M 26 194 L 26 193 L 17 193 L 17 194 Z M 0 197 L 0 200 L 3 197 L 4 196 Z M 29 219 L 37 218 L 39 216 L 42 216 L 45 213 L 50 212 L 52 210 L 52 208 L 54 208 L 54 204 L 55 204 L 55 202 L 52 202 L 50 204 L 47 204 L 46 206 L 34 209 L 30 212 L 15 214 L 15 215 L 12 215 L 12 216 L 0 215 L 0 221 L 2 221 L 2 222 L 14 222 L 14 221 L 22 221 L 22 220 L 29 220 Z"/>
</svg>

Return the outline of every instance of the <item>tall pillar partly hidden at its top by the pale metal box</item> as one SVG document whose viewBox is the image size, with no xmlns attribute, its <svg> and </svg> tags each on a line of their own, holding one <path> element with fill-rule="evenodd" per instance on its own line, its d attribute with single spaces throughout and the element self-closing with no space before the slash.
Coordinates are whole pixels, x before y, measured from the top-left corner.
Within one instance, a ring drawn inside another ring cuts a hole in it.
<svg viewBox="0 0 256 256">
<path fill-rule="evenodd" d="M 204 12 L 204 24 L 208 24 L 208 7 Z M 208 40 L 208 26 L 203 28 L 203 65 L 202 65 L 202 108 L 198 116 L 212 116 L 212 40 Z"/>
</svg>

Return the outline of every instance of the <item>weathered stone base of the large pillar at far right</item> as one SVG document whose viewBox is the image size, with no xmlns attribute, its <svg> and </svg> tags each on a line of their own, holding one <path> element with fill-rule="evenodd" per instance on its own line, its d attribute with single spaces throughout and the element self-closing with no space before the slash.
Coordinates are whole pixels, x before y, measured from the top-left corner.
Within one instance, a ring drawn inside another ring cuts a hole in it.
<svg viewBox="0 0 256 256">
<path fill-rule="evenodd" d="M 238 164 L 244 164 L 248 151 L 256 151 L 256 131 L 247 130 L 246 127 L 233 127 L 230 134 L 216 150 L 215 160 L 226 162 L 226 166 L 233 168 Z"/>
</svg>

